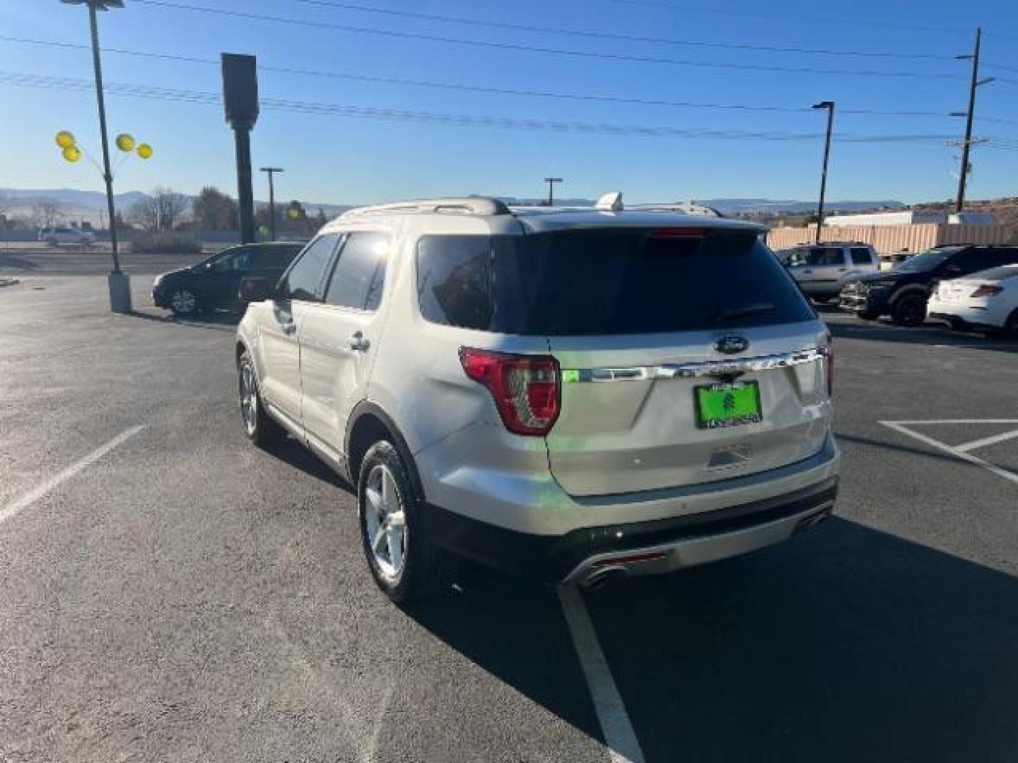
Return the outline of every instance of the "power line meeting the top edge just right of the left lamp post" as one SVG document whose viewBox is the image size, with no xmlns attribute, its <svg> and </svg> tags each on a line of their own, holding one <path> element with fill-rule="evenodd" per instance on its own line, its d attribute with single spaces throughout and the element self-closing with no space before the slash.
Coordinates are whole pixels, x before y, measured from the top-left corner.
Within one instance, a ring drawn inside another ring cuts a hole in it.
<svg viewBox="0 0 1018 763">
<path fill-rule="evenodd" d="M 310 28 L 329 28 L 341 32 L 351 32 L 362 35 L 376 35 L 401 40 L 423 40 L 432 43 L 442 43 L 449 45 L 464 45 L 478 48 L 491 48 L 497 50 L 520 51 L 527 53 L 543 53 L 556 56 L 570 56 L 575 58 L 592 58 L 605 61 L 631 61 L 639 63 L 668 64 L 672 66 L 692 66 L 709 69 L 732 70 L 732 71 L 769 71 L 785 72 L 794 74 L 833 74 L 847 76 L 868 76 L 868 77 L 896 77 L 910 79 L 964 79 L 960 74 L 941 74 L 918 71 L 879 71 L 872 69 L 835 69 L 819 68 L 811 66 L 779 66 L 770 64 L 737 64 L 724 63 L 718 61 L 690 61 L 663 56 L 636 56 L 626 53 L 607 53 L 596 51 L 578 51 L 565 48 L 549 48 L 536 45 L 524 45 L 522 43 L 495 42 L 491 40 L 467 40 L 464 38 L 444 37 L 441 35 L 427 35 L 423 33 L 400 32 L 397 30 L 382 30 L 374 26 L 359 26 L 354 24 L 341 24 L 332 21 L 318 21 L 305 18 L 294 18 L 292 16 L 273 16 L 265 13 L 251 13 L 249 11 L 228 10 L 225 8 L 210 8 L 202 5 L 189 5 L 185 3 L 171 3 L 166 0 L 133 0 L 134 3 L 152 5 L 174 10 L 187 10 L 200 13 L 212 13 L 229 16 L 232 18 L 243 18 L 250 21 L 269 21 L 272 23 L 285 23 Z"/>
</svg>

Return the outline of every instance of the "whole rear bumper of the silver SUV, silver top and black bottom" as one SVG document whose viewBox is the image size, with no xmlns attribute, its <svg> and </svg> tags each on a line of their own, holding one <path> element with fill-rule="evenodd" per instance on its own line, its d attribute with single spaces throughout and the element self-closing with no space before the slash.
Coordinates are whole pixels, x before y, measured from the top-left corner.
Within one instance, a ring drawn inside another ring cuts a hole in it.
<svg viewBox="0 0 1018 763">
<path fill-rule="evenodd" d="M 777 543 L 827 516 L 839 463 L 828 435 L 798 463 L 664 490 L 579 497 L 554 480 L 528 489 L 505 475 L 467 479 L 468 491 L 453 492 L 433 482 L 425 488 L 427 529 L 450 551 L 531 579 L 583 580 L 618 566 L 668 572 Z M 418 466 L 434 477 L 427 463 Z M 619 562 L 620 554 L 648 556 Z"/>
</svg>

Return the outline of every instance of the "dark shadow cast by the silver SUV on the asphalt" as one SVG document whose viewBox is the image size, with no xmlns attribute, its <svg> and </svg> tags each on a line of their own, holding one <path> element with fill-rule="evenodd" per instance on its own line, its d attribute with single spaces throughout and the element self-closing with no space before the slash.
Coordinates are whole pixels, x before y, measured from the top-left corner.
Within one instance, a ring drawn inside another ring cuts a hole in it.
<svg viewBox="0 0 1018 763">
<path fill-rule="evenodd" d="M 1004 761 L 1018 747 L 1004 573 L 832 519 L 584 598 L 647 761 Z M 554 590 L 490 576 L 410 614 L 601 738 Z"/>
</svg>

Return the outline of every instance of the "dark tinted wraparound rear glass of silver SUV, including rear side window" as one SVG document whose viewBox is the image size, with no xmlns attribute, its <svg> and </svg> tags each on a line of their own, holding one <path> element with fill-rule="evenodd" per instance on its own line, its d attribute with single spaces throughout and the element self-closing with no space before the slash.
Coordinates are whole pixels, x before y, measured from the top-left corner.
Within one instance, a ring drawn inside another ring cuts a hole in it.
<svg viewBox="0 0 1018 763">
<path fill-rule="evenodd" d="M 600 229 L 527 236 L 425 236 L 427 320 L 501 334 L 655 334 L 814 318 L 751 233 Z"/>
</svg>

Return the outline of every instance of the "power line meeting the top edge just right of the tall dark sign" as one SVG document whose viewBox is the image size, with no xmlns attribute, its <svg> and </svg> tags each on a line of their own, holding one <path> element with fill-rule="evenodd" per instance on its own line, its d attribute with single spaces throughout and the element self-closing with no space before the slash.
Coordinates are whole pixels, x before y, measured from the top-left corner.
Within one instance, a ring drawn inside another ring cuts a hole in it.
<svg viewBox="0 0 1018 763">
<path fill-rule="evenodd" d="M 358 3 L 338 2 L 337 0 L 292 0 L 292 2 L 303 3 L 324 8 L 338 8 L 341 10 L 352 10 L 362 13 L 377 13 L 397 18 L 413 18 L 425 21 L 441 21 L 443 23 L 460 23 L 470 26 L 487 26 L 497 30 L 512 30 L 515 32 L 536 32 L 540 34 L 567 35 L 571 37 L 587 38 L 592 40 L 619 40 L 628 43 L 652 43 L 656 45 L 673 45 L 692 48 L 719 48 L 723 50 L 750 50 L 764 53 L 806 53 L 824 56 L 854 56 L 864 58 L 893 58 L 893 59 L 920 59 L 934 61 L 952 61 L 953 56 L 938 56 L 930 53 L 899 53 L 888 51 L 856 51 L 856 50 L 830 50 L 816 48 L 782 47 L 773 45 L 753 45 L 749 43 L 729 43 L 705 40 L 677 40 L 675 38 L 647 37 L 642 35 L 621 35 L 612 32 L 596 32 L 592 30 L 570 30 L 562 26 L 541 26 L 536 24 L 525 24 L 513 21 L 491 21 L 480 18 L 466 18 L 464 16 L 448 16 L 437 13 L 420 13 L 417 11 L 395 10 L 392 8 L 377 8 L 371 5 Z"/>
</svg>

